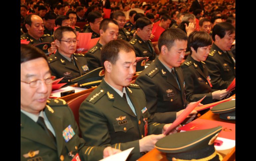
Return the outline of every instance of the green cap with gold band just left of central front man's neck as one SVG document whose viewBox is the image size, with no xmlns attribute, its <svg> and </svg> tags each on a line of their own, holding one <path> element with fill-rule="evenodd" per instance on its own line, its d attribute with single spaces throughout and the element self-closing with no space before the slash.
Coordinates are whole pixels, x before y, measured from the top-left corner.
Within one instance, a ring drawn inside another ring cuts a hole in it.
<svg viewBox="0 0 256 161">
<path fill-rule="evenodd" d="M 72 79 L 71 82 L 76 83 L 78 87 L 91 88 L 92 86 L 97 86 L 100 84 L 104 76 L 103 67 L 96 68 L 80 77 Z"/>
</svg>

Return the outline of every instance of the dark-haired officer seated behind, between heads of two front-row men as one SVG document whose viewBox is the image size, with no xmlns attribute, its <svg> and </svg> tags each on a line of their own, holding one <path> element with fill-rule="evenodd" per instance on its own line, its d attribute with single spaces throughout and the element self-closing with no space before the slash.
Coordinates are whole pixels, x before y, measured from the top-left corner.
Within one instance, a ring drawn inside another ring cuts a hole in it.
<svg viewBox="0 0 256 161">
<path fill-rule="evenodd" d="M 135 49 L 137 57 L 149 57 L 149 63 L 155 59 L 156 53 L 150 40 L 152 34 L 152 22 L 146 17 L 141 17 L 135 24 L 137 34 L 130 41 Z"/>
</svg>

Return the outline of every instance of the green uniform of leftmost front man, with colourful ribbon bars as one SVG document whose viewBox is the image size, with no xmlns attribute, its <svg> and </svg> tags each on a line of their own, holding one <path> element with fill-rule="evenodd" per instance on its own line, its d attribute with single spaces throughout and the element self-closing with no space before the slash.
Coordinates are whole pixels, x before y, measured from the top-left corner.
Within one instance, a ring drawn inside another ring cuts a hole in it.
<svg viewBox="0 0 256 161">
<path fill-rule="evenodd" d="M 84 161 L 103 158 L 104 147 L 85 146 L 85 141 L 79 137 L 79 129 L 74 115 L 64 100 L 48 100 L 44 112 L 55 131 L 57 146 L 38 123 L 21 112 L 22 161 L 70 161 L 77 153 Z M 65 142 L 63 131 L 69 125 L 73 129 L 74 135 Z"/>
</svg>

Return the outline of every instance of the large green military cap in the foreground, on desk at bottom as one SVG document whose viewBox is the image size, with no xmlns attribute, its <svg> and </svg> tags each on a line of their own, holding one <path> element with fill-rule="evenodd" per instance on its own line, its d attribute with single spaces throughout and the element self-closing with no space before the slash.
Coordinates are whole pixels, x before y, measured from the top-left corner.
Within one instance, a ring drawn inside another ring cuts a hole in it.
<svg viewBox="0 0 256 161">
<path fill-rule="evenodd" d="M 217 126 L 178 132 L 158 140 L 155 147 L 171 161 L 220 161 L 222 156 L 214 148 L 214 140 L 221 130 L 222 126 Z"/>
</svg>

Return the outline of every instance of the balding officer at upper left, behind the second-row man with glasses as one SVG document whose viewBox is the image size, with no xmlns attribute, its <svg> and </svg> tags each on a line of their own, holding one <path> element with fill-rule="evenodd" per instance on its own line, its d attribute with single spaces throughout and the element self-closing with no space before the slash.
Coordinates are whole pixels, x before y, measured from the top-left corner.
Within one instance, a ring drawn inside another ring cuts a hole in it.
<svg viewBox="0 0 256 161">
<path fill-rule="evenodd" d="M 27 39 L 32 45 L 49 42 L 51 47 L 48 49 L 48 53 L 53 53 L 57 49 L 53 38 L 49 34 L 44 35 L 44 22 L 41 17 L 34 14 L 28 15 L 24 25 L 28 32 L 21 35 L 21 40 Z"/>
</svg>

